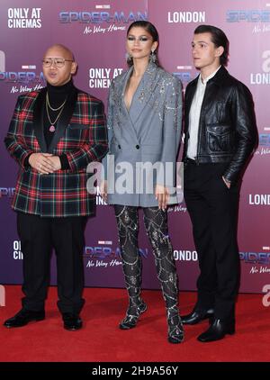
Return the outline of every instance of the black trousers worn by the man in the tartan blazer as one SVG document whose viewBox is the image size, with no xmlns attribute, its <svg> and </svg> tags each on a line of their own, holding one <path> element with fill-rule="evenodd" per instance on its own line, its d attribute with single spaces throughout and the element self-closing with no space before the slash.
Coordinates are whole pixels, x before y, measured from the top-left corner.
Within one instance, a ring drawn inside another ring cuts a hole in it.
<svg viewBox="0 0 270 380">
<path fill-rule="evenodd" d="M 44 309 L 49 286 L 51 251 L 57 258 L 58 309 L 79 313 L 85 303 L 83 251 L 87 217 L 41 218 L 17 213 L 23 251 L 23 308 Z"/>
</svg>

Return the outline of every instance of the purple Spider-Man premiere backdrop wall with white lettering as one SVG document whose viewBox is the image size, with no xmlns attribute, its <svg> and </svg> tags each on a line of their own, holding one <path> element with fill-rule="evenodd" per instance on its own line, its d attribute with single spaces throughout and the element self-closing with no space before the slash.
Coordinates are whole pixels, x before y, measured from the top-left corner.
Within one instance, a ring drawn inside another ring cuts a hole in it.
<svg viewBox="0 0 270 380">
<path fill-rule="evenodd" d="M 193 68 L 193 30 L 202 23 L 226 32 L 229 72 L 251 90 L 259 145 L 244 177 L 238 221 L 241 292 L 260 293 L 270 284 L 270 0 L 1 0 L 0 2 L 0 284 L 21 284 L 23 252 L 10 205 L 18 167 L 4 149 L 4 135 L 18 95 L 46 86 L 41 69 L 53 43 L 74 52 L 77 87 L 106 104 L 113 77 L 125 70 L 125 37 L 130 23 L 149 20 L 160 35 L 159 56 L 184 87 Z M 96 196 L 97 214 L 85 233 L 85 285 L 122 287 L 114 213 Z M 139 249 L 143 287 L 158 288 L 152 252 L 142 220 Z M 195 289 L 197 253 L 184 201 L 169 209 L 170 236 L 181 290 Z M 51 284 L 56 283 L 52 258 Z"/>
</svg>

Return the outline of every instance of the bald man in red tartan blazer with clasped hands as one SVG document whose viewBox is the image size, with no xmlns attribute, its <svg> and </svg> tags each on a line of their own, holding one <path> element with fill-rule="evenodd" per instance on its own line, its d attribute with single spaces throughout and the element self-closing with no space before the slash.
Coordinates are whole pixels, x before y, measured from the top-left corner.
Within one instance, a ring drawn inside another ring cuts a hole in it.
<svg viewBox="0 0 270 380">
<path fill-rule="evenodd" d="M 58 309 L 64 328 L 81 328 L 85 300 L 84 231 L 94 215 L 86 190 L 86 167 L 107 152 L 103 103 L 72 82 L 70 50 L 53 45 L 43 58 L 47 86 L 18 98 L 5 145 L 20 169 L 14 193 L 23 250 L 23 309 L 4 326 L 21 327 L 45 318 L 49 258 L 58 270 Z"/>
</svg>

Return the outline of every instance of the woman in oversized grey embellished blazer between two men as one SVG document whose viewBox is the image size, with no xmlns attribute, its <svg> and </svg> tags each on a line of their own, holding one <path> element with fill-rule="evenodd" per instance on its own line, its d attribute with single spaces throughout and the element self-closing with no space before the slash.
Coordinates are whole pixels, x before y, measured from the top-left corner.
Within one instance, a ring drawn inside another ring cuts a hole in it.
<svg viewBox="0 0 270 380">
<path fill-rule="evenodd" d="M 103 161 L 107 180 L 103 198 L 114 205 L 129 308 L 122 330 L 136 326 L 147 309 L 140 298 L 141 257 L 138 208 L 155 255 L 157 276 L 166 302 L 168 341 L 184 339 L 178 312 L 178 286 L 173 248 L 167 232 L 167 204 L 175 203 L 175 159 L 182 122 L 181 82 L 160 68 L 158 33 L 145 21 L 127 32 L 129 70 L 112 81 L 109 95 L 110 151 Z M 107 169 L 106 169 L 107 168 Z"/>
</svg>

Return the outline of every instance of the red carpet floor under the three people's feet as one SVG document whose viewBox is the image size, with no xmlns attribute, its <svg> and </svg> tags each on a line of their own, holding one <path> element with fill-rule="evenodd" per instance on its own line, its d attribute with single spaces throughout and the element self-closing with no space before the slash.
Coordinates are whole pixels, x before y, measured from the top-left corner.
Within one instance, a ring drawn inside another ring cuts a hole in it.
<svg viewBox="0 0 270 380">
<path fill-rule="evenodd" d="M 3 321 L 21 308 L 20 286 L 5 286 L 5 306 L 0 307 L 0 361 L 10 362 L 181 362 L 181 361 L 270 361 L 270 307 L 261 294 L 240 294 L 237 333 L 218 342 L 200 343 L 196 337 L 208 322 L 185 328 L 180 345 L 166 342 L 165 307 L 161 293 L 144 291 L 148 311 L 138 327 L 122 331 L 118 322 L 127 305 L 121 289 L 85 289 L 84 328 L 67 331 L 57 310 L 56 288 L 49 289 L 46 320 L 23 328 L 5 329 Z M 196 294 L 181 293 L 181 311 L 189 312 Z"/>
</svg>

